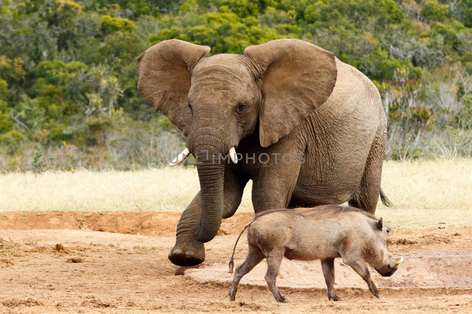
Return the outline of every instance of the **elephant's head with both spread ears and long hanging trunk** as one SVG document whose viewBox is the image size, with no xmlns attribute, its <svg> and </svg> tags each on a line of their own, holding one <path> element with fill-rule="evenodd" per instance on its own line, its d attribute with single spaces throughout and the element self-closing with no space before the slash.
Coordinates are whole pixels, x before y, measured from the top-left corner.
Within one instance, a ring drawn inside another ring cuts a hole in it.
<svg viewBox="0 0 472 314">
<path fill-rule="evenodd" d="M 222 217 L 224 164 L 211 156 L 225 156 L 256 129 L 262 147 L 276 143 L 328 99 L 337 78 L 334 55 L 303 40 L 273 40 L 244 55 L 209 52 L 166 40 L 143 52 L 137 69 L 141 95 L 197 154 L 201 242 L 216 235 Z"/>
</svg>

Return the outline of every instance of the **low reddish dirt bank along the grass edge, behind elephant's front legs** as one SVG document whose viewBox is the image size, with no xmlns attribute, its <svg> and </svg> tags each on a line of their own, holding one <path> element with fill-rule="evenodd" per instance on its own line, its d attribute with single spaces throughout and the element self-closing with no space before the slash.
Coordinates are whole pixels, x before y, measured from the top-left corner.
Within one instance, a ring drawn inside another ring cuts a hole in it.
<svg viewBox="0 0 472 314">
<path fill-rule="evenodd" d="M 140 235 L 175 236 L 181 213 L 157 212 L 14 212 L 1 213 L 0 229 L 70 229 Z M 236 234 L 254 214 L 223 219 L 218 234 Z"/>
</svg>

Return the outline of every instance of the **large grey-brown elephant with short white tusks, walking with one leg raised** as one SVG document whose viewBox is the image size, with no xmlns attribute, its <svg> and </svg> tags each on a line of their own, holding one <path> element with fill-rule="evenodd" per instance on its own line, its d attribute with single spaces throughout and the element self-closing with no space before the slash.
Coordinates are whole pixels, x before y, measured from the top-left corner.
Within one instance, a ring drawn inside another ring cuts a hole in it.
<svg viewBox="0 0 472 314">
<path fill-rule="evenodd" d="M 139 93 L 186 136 L 176 161 L 192 153 L 197 163 L 200 192 L 180 217 L 173 264 L 204 261 L 203 243 L 234 215 L 250 179 L 255 213 L 347 201 L 374 214 L 379 195 L 386 204 L 387 118 L 365 75 L 296 39 L 209 53 L 172 39 L 137 59 Z"/>
</svg>

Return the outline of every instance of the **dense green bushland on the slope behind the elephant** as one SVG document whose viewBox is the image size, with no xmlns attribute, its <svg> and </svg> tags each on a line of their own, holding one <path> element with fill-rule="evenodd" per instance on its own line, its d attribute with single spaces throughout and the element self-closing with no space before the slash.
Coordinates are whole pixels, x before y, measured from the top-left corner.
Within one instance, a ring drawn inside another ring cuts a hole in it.
<svg viewBox="0 0 472 314">
<path fill-rule="evenodd" d="M 136 57 L 170 38 L 243 53 L 310 41 L 365 73 L 386 158 L 472 154 L 472 0 L 1 0 L 0 169 L 161 166 L 181 133 L 136 91 Z M 38 155 L 36 154 L 36 157 Z M 38 159 L 38 157 L 36 158 Z M 36 162 L 37 164 L 37 162 Z"/>
</svg>

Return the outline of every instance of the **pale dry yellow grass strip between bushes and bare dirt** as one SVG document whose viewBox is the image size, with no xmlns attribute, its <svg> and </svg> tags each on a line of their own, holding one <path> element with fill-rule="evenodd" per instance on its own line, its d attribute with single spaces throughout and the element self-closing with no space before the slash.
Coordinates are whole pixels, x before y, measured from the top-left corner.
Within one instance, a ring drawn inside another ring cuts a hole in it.
<svg viewBox="0 0 472 314">
<path fill-rule="evenodd" d="M 382 187 L 393 203 L 376 214 L 389 224 L 431 227 L 472 221 L 472 160 L 386 161 Z M 251 182 L 239 213 L 253 211 Z M 0 212 L 180 212 L 199 190 L 194 168 L 0 175 Z"/>
</svg>

